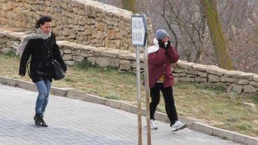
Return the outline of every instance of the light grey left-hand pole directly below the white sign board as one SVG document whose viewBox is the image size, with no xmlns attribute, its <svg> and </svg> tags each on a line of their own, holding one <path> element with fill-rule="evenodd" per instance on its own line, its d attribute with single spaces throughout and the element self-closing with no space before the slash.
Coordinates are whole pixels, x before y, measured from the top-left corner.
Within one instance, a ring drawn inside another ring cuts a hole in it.
<svg viewBox="0 0 258 145">
<path fill-rule="evenodd" d="M 137 106 L 138 106 L 138 145 L 142 145 L 142 107 L 140 79 L 140 47 L 136 48 Z"/>
</svg>

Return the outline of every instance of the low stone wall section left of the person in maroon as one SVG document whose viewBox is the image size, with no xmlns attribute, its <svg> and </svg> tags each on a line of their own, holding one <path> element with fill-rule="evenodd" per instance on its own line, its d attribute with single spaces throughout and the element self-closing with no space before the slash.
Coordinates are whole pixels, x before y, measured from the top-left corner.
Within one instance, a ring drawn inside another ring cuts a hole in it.
<svg viewBox="0 0 258 145">
<path fill-rule="evenodd" d="M 11 32 L 0 29 L 0 53 L 15 51 L 14 43 L 20 44 L 25 33 Z M 128 50 L 111 49 L 107 47 L 94 47 L 82 45 L 64 40 L 57 41 L 60 52 L 66 64 L 73 65 L 75 62 L 88 60 L 99 66 L 112 66 L 120 70 L 131 71 L 136 69 L 136 55 Z M 143 69 L 143 54 L 141 56 L 141 69 Z"/>
</svg>

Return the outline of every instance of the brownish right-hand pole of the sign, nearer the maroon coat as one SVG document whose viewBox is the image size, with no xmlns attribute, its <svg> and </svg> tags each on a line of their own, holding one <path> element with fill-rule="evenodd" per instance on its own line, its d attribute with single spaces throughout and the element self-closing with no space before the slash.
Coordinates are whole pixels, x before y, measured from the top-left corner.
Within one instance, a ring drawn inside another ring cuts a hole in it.
<svg viewBox="0 0 258 145">
<path fill-rule="evenodd" d="M 145 86 L 145 99 L 146 99 L 146 122 L 147 122 L 147 145 L 151 145 L 151 132 L 150 132 L 150 88 L 149 88 L 149 69 L 148 69 L 148 39 L 144 48 L 144 86 Z"/>
</svg>

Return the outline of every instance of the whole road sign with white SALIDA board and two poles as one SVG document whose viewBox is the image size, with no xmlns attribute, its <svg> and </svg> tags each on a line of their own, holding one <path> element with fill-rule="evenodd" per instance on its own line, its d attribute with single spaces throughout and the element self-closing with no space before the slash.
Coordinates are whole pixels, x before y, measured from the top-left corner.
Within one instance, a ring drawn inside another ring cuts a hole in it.
<svg viewBox="0 0 258 145">
<path fill-rule="evenodd" d="M 142 145 L 142 112 L 141 112 L 141 90 L 140 90 L 140 47 L 147 44 L 147 25 L 144 15 L 132 16 L 132 44 L 136 46 L 136 77 L 137 77 L 137 106 L 138 106 L 138 145 Z M 147 46 L 146 46 L 147 47 Z M 145 47 L 145 51 L 147 49 Z M 146 93 L 146 122 L 147 122 L 147 145 L 151 145 L 150 134 L 150 103 L 149 103 L 149 80 L 148 80 L 148 59 L 145 59 L 145 93 Z M 147 73 L 146 73 L 147 72 Z M 147 78 L 147 80 L 146 80 Z"/>
</svg>

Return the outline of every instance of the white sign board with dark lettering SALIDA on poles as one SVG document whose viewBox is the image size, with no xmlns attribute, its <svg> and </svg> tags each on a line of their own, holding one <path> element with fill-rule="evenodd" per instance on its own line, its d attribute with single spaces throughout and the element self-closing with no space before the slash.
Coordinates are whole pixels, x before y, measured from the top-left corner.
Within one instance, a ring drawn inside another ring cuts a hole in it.
<svg viewBox="0 0 258 145">
<path fill-rule="evenodd" d="M 132 16 L 132 44 L 134 46 L 145 46 L 147 37 L 147 25 L 144 15 Z"/>
</svg>

